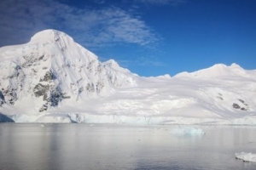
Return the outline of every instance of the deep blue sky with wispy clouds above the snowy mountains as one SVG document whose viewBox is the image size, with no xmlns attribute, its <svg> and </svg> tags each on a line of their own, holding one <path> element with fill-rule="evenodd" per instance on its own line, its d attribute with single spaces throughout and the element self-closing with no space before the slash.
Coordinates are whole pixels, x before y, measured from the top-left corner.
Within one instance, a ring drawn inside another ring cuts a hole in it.
<svg viewBox="0 0 256 170">
<path fill-rule="evenodd" d="M 64 31 L 140 76 L 256 69 L 256 0 L 1 0 L 0 47 Z"/>
</svg>

